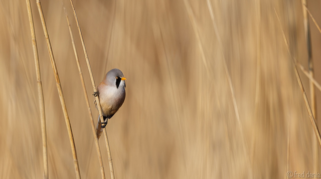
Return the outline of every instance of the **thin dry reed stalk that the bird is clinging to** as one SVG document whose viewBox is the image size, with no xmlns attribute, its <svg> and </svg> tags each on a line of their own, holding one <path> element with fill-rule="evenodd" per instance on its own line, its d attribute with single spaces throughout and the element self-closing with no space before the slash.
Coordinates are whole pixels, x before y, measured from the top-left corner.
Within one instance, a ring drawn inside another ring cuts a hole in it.
<svg viewBox="0 0 321 179">
<path fill-rule="evenodd" d="M 91 71 L 90 61 L 89 61 L 87 50 L 86 50 L 86 47 L 85 47 L 84 38 L 83 38 L 82 33 L 81 33 L 79 21 L 78 21 L 76 10 L 75 10 L 74 3 L 73 3 L 72 0 L 70 0 L 70 4 L 71 4 L 72 10 L 74 12 L 75 21 L 76 21 L 76 24 L 77 24 L 77 27 L 78 27 L 78 32 L 79 32 L 79 36 L 80 36 L 80 39 L 81 39 L 81 44 L 82 44 L 82 47 L 83 47 L 83 50 L 84 50 L 86 63 L 87 63 L 87 66 L 88 66 L 88 71 L 89 71 L 89 75 L 90 75 L 90 79 L 91 79 L 91 83 L 92 83 L 92 87 L 93 87 L 94 92 L 96 93 L 97 92 L 97 88 L 96 88 L 94 76 L 93 76 L 92 71 Z M 104 119 L 103 119 L 103 116 L 102 116 L 99 96 L 96 95 L 95 99 L 96 99 L 96 103 L 97 103 L 97 108 L 98 108 L 98 112 L 99 112 L 100 121 L 103 122 Z M 105 143 L 106 143 L 107 154 L 108 154 L 110 176 L 111 176 L 111 179 L 114 179 L 115 178 L 114 167 L 113 167 L 113 164 L 112 164 L 112 158 L 111 158 L 111 152 L 110 152 L 110 147 L 109 147 L 109 141 L 108 141 L 108 137 L 107 137 L 106 128 L 103 129 L 103 133 L 104 133 L 104 137 L 105 137 Z"/>
</svg>

